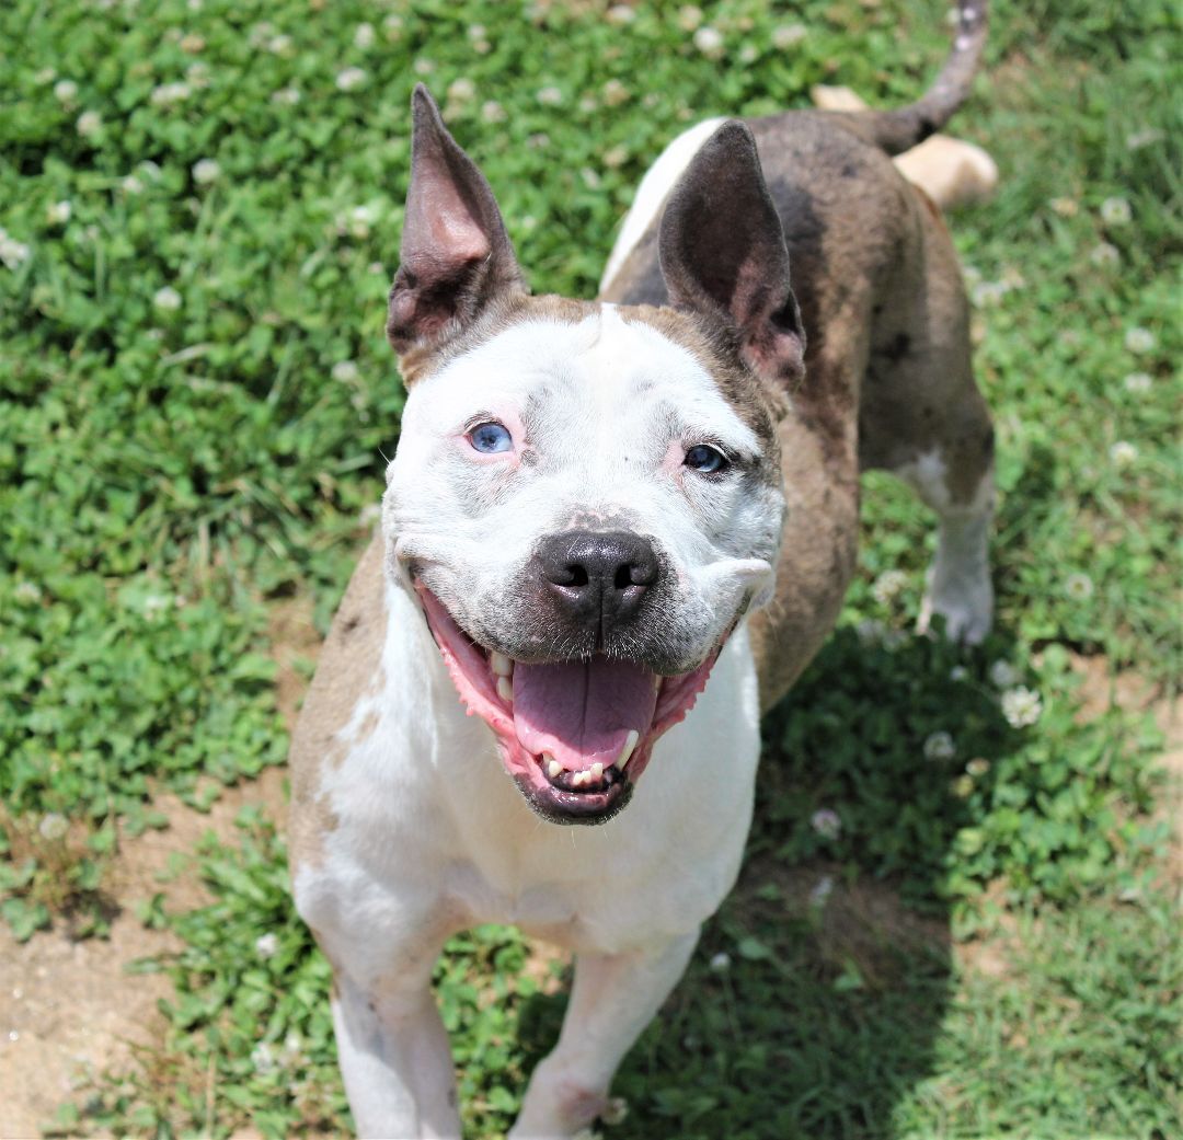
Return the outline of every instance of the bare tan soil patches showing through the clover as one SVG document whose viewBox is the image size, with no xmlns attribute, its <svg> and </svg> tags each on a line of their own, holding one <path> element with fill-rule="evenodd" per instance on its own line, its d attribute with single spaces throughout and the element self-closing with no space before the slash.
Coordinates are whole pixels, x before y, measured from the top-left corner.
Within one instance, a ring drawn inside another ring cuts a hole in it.
<svg viewBox="0 0 1183 1140">
<path fill-rule="evenodd" d="M 277 691 L 289 725 L 305 684 L 296 665 L 300 658 L 315 656 L 319 643 L 309 614 L 299 600 L 282 603 L 272 626 Z M 1168 737 L 1163 763 L 1171 782 L 1161 810 L 1178 818 L 1183 718 L 1138 678 L 1111 678 L 1101 659 L 1080 658 L 1074 665 L 1085 678 L 1085 714 L 1097 714 L 1111 701 L 1153 711 Z M 175 944 L 168 932 L 146 928 L 136 916 L 136 905 L 157 892 L 164 894 L 169 909 L 205 901 L 192 857 L 198 838 L 209 829 L 228 838 L 235 815 L 246 804 L 261 805 L 272 818 L 282 818 L 284 775 L 282 769 L 271 769 L 258 780 L 227 790 L 208 814 L 174 796 L 160 796 L 156 807 L 168 816 L 169 827 L 124 840 L 116 856 L 110 887 L 119 909 L 110 938 L 73 941 L 54 928 L 19 944 L 0 925 L 0 1140 L 39 1136 L 40 1126 L 53 1119 L 58 1106 L 78 1096 L 88 1073 L 119 1067 L 130 1061 L 134 1044 L 159 1039 L 163 1019 L 156 1004 L 167 996 L 168 980 L 160 974 L 131 974 L 125 966 L 170 951 Z M 1165 874 L 1183 882 L 1178 837 Z M 167 875 L 163 881 L 162 875 Z M 856 901 L 865 921 L 866 913 L 875 909 L 874 900 Z M 964 967 L 989 974 L 1007 970 L 1004 940 L 957 947 L 957 953 Z"/>
</svg>

